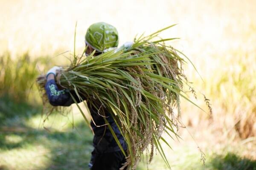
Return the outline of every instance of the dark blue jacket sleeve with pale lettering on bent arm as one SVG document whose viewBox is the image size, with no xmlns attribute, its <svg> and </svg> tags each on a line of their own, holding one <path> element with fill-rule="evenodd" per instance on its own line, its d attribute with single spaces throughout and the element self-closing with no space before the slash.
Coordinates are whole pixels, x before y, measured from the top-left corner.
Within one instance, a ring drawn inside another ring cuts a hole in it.
<svg viewBox="0 0 256 170">
<path fill-rule="evenodd" d="M 76 99 L 76 102 L 81 102 L 74 91 L 70 91 L 68 89 L 59 90 L 54 79 L 47 81 L 45 91 L 47 93 L 49 103 L 53 106 L 70 106 L 73 104 L 75 101 L 70 96 L 70 93 Z M 82 97 L 82 99 L 85 100 L 84 97 Z"/>
</svg>

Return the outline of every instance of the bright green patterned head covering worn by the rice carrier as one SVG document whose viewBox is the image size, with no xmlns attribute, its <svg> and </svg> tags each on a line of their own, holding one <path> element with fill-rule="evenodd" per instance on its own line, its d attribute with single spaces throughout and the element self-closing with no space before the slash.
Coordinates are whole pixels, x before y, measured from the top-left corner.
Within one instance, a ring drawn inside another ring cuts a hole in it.
<svg viewBox="0 0 256 170">
<path fill-rule="evenodd" d="M 118 46 L 118 33 L 115 27 L 108 23 L 94 23 L 85 34 L 85 42 L 97 51 Z"/>
</svg>

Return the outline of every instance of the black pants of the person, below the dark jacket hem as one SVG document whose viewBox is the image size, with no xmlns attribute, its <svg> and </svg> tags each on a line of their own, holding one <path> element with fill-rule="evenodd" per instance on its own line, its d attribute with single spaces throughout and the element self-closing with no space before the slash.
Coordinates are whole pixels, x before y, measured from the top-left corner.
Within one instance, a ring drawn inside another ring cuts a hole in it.
<svg viewBox="0 0 256 170">
<path fill-rule="evenodd" d="M 90 170 L 119 170 L 125 161 L 126 159 L 122 151 L 96 153 L 96 151 L 93 150 L 89 167 Z"/>
</svg>

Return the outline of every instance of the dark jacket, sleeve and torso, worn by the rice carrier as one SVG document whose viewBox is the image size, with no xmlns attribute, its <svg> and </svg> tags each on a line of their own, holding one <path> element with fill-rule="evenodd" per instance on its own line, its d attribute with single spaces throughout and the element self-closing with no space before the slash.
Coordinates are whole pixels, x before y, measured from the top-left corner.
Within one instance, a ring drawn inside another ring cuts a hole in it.
<svg viewBox="0 0 256 170">
<path fill-rule="evenodd" d="M 45 90 L 49 99 L 49 102 L 53 106 L 70 106 L 74 103 L 72 96 L 79 102 L 79 98 L 74 91 L 69 91 L 68 89 L 59 90 L 55 80 L 49 80 L 45 85 Z M 85 100 L 85 98 L 83 98 Z M 98 114 L 98 111 L 90 105 L 88 105 L 91 116 L 96 125 L 91 121 L 90 125 L 93 128 L 94 137 L 93 137 L 93 146 L 98 153 L 109 153 L 109 152 L 116 152 L 120 151 L 119 146 L 117 145 L 115 139 L 113 138 L 109 128 L 105 125 L 105 121 L 102 116 Z M 119 139 L 120 144 L 122 145 L 124 150 L 127 150 L 127 146 L 124 140 L 124 137 L 121 135 L 116 123 L 114 122 L 112 116 L 108 111 L 105 111 L 106 119 L 108 120 L 109 124 L 111 125 L 113 131 L 115 132 L 117 138 Z"/>
</svg>

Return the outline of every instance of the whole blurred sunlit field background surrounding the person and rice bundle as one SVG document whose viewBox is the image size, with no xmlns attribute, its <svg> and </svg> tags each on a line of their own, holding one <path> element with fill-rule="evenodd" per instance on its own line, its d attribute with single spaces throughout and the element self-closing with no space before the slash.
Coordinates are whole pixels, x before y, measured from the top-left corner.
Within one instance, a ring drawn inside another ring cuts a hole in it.
<svg viewBox="0 0 256 170">
<path fill-rule="evenodd" d="M 119 31 L 119 44 L 177 24 L 160 36 L 178 37 L 185 74 L 204 111 L 181 101 L 182 139 L 163 144 L 172 170 L 256 170 L 255 0 L 1 0 L 0 170 L 88 170 L 93 134 L 79 111 L 44 122 L 39 74 L 68 65 L 84 50 L 92 23 Z M 68 51 L 65 54 L 61 54 Z M 189 89 L 186 89 L 189 91 Z M 210 100 L 212 115 L 205 105 Z M 165 135 L 165 134 L 164 134 Z M 160 155 L 138 170 L 167 170 Z"/>
</svg>

